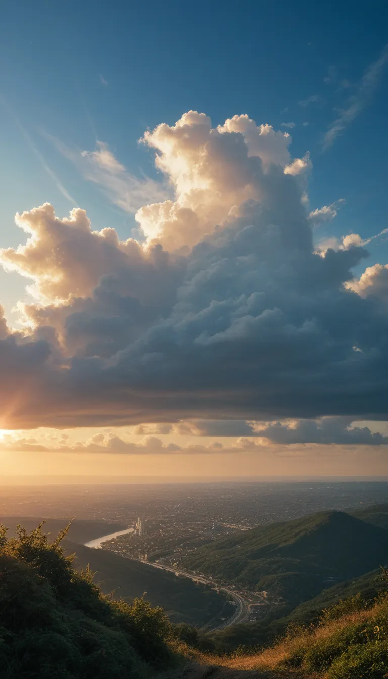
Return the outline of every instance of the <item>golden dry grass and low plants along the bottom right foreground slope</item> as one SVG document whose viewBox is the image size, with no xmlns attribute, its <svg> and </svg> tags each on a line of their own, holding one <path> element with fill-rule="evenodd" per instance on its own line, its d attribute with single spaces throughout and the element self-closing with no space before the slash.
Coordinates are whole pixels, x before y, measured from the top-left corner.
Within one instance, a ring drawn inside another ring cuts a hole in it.
<svg viewBox="0 0 388 679">
<path fill-rule="evenodd" d="M 349 664 L 353 679 L 359 676 L 357 667 L 361 667 L 362 663 L 364 663 L 362 667 L 365 667 L 365 662 L 374 663 L 376 657 L 376 661 L 381 663 L 381 655 L 379 656 L 378 653 L 385 653 L 388 638 L 387 594 L 376 600 L 374 606 L 367 610 L 353 610 L 353 612 L 342 614 L 338 619 L 330 620 L 333 612 L 337 614 L 332 609 L 332 612 L 325 615 L 325 621 L 318 627 L 294 629 L 272 647 L 266 648 L 261 653 L 251 653 L 251 655 L 237 652 L 232 657 L 226 655 L 219 657 L 201 653 L 182 642 L 177 642 L 174 650 L 183 663 L 180 668 L 177 667 L 177 675 L 171 679 L 207 679 L 208 676 L 211 679 L 251 679 L 253 677 L 328 679 L 328 676 L 334 676 L 333 667 L 336 667 L 334 672 L 340 672 L 338 676 L 345 679 L 348 667 L 344 665 L 344 661 L 342 661 L 342 669 L 336 663 L 344 653 L 347 657 L 347 653 L 351 653 L 349 651 L 351 648 L 364 649 L 360 651 L 361 655 L 359 655 L 359 650 L 356 650 L 357 663 L 361 664 Z M 376 649 L 378 640 L 382 644 L 380 649 Z M 353 654 L 353 659 L 354 657 Z M 385 661 L 384 655 L 383 661 Z M 346 662 L 347 659 L 345 659 Z M 181 671 L 183 669 L 181 674 L 179 674 L 179 669 Z M 383 675 L 378 674 L 378 676 Z"/>
</svg>

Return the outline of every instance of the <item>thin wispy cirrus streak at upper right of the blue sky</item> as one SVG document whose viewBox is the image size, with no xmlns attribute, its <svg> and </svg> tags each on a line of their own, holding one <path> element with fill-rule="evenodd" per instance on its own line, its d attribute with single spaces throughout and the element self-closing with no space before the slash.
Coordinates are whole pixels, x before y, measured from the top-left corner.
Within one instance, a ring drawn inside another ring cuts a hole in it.
<svg viewBox="0 0 388 679">
<path fill-rule="evenodd" d="M 330 125 L 328 131 L 323 136 L 322 149 L 328 149 L 339 134 L 361 113 L 366 107 L 374 90 L 378 87 L 383 70 L 388 62 L 388 45 L 381 52 L 378 59 L 366 69 L 355 95 L 349 99 L 347 108 L 340 111 L 340 115 Z"/>
</svg>

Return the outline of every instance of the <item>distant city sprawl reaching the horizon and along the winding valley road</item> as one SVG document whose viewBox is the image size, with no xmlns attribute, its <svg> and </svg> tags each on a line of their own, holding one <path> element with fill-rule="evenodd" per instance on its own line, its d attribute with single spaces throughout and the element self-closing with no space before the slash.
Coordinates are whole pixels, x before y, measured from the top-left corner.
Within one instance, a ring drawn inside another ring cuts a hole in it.
<svg viewBox="0 0 388 679">
<path fill-rule="evenodd" d="M 222 589 L 236 605 L 236 622 L 247 622 L 263 619 L 278 606 L 279 597 L 188 570 L 186 562 L 197 549 L 256 526 L 317 511 L 388 502 L 388 483 L 23 486 L 2 488 L 0 497 L 3 515 L 102 520 L 107 540 L 99 538 L 92 546 L 98 543 L 105 550 L 136 559 L 145 568 L 162 568 Z M 118 532 L 117 526 L 123 530 Z"/>
</svg>

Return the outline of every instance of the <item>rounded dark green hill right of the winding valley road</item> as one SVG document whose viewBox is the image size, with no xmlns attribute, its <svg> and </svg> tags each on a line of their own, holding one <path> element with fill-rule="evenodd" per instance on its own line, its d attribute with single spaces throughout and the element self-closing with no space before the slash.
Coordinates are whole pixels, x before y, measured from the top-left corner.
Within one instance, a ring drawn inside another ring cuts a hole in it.
<svg viewBox="0 0 388 679">
<path fill-rule="evenodd" d="M 291 610 L 323 589 L 388 562 L 388 532 L 343 512 L 322 512 L 216 540 L 184 565 L 281 595 Z"/>
</svg>

